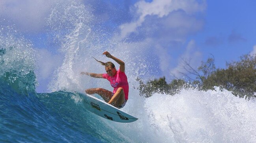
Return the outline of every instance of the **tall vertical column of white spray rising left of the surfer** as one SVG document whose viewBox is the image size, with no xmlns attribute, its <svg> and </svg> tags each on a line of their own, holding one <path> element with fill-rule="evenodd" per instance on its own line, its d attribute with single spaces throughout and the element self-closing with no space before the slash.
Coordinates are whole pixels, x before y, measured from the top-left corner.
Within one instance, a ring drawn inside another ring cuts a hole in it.
<svg viewBox="0 0 256 143">
<path fill-rule="evenodd" d="M 52 8 L 47 22 L 53 38 L 61 43 L 60 51 L 65 54 L 65 58 L 49 85 L 51 91 L 82 89 L 77 81 L 81 66 L 84 67 L 81 60 L 84 53 L 89 51 L 86 49 L 93 45 L 90 40 L 95 39 L 91 33 L 91 18 L 92 15 L 86 11 L 85 6 L 73 0 L 57 1 Z"/>
</svg>

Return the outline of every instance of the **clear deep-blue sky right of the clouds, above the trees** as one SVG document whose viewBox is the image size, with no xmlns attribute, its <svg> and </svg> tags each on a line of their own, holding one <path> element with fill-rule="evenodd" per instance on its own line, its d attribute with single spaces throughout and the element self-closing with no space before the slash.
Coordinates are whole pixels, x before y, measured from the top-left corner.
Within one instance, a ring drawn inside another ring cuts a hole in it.
<svg viewBox="0 0 256 143">
<path fill-rule="evenodd" d="M 196 36 L 202 51 L 215 56 L 216 65 L 238 60 L 255 45 L 255 1 L 207 1 L 204 29 Z"/>
</svg>

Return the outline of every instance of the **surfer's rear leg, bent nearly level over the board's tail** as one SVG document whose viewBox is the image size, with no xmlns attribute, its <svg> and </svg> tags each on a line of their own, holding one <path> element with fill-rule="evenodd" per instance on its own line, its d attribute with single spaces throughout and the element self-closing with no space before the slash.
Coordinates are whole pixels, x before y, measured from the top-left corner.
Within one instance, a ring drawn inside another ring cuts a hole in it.
<svg viewBox="0 0 256 143">
<path fill-rule="evenodd" d="M 111 91 L 102 88 L 86 89 L 85 92 L 87 94 L 99 94 L 105 100 L 105 102 L 108 102 L 112 97 Z"/>
</svg>

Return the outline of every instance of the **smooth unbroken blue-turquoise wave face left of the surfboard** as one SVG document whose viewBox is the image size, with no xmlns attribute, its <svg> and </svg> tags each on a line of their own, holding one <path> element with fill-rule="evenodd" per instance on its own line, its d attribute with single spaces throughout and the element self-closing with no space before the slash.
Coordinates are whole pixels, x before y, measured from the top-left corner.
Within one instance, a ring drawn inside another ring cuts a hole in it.
<svg viewBox="0 0 256 143">
<path fill-rule="evenodd" d="M 37 94 L 2 78 L 0 85 L 0 142 L 113 142 L 105 125 L 93 121 L 82 102 L 74 102 L 72 92 Z"/>
</svg>

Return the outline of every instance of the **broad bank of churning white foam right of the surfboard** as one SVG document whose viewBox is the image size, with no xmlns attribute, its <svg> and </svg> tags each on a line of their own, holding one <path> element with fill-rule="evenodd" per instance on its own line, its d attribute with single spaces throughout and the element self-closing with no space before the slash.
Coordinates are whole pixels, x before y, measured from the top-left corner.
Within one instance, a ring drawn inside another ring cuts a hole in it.
<svg viewBox="0 0 256 143">
<path fill-rule="evenodd" d="M 123 110 L 139 118 L 121 125 L 120 134 L 133 142 L 148 143 L 254 143 L 256 104 L 235 97 L 231 92 L 183 89 L 174 96 L 154 94 L 132 100 Z"/>
</svg>

